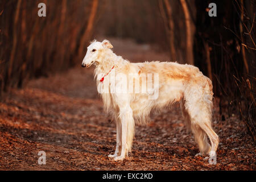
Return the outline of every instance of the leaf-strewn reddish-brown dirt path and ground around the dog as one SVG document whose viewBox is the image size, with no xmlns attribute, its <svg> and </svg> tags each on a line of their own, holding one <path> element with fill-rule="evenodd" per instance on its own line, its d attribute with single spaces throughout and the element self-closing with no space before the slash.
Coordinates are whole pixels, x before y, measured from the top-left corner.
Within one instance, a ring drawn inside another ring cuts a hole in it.
<svg viewBox="0 0 256 182">
<path fill-rule="evenodd" d="M 168 55 L 131 40 L 112 39 L 114 51 L 131 61 L 168 60 Z M 218 115 L 217 164 L 201 156 L 187 134 L 178 105 L 151 114 L 137 126 L 129 158 L 115 162 L 115 124 L 104 113 L 93 81 L 93 68 L 79 63 L 66 73 L 31 80 L 0 102 L 1 170 L 255 170 L 255 146 L 239 117 Z M 38 152 L 46 152 L 46 165 Z"/>
</svg>

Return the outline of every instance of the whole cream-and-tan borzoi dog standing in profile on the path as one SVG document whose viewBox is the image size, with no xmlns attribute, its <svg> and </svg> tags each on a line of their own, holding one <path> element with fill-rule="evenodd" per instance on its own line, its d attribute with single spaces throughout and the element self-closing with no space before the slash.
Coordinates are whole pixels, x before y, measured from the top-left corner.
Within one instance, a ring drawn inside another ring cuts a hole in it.
<svg viewBox="0 0 256 182">
<path fill-rule="evenodd" d="M 108 40 L 94 40 L 82 61 L 82 67 L 96 65 L 98 92 L 105 110 L 117 125 L 117 146 L 109 158 L 125 159 L 131 151 L 135 123 L 147 122 L 151 109 L 161 109 L 177 101 L 188 129 L 195 135 L 200 151 L 197 155 L 216 156 L 218 135 L 211 126 L 212 81 L 192 65 L 159 61 L 130 63 L 115 55 L 111 48 Z"/>
</svg>

